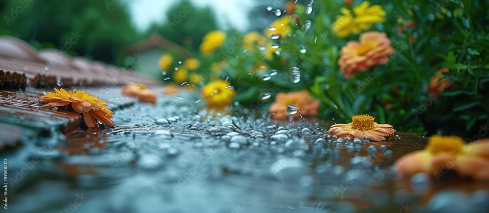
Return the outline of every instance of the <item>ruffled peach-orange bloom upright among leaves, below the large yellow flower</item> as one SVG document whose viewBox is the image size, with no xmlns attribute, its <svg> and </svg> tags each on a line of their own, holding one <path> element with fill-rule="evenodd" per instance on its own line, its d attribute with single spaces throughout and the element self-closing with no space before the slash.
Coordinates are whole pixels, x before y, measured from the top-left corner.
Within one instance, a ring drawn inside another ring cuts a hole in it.
<svg viewBox="0 0 489 213">
<path fill-rule="evenodd" d="M 394 54 L 391 40 L 385 33 L 366 32 L 360 35 L 360 42 L 350 41 L 341 48 L 338 65 L 345 78 L 350 78 L 358 71 L 366 71 L 378 64 L 387 63 L 389 55 Z"/>
</svg>

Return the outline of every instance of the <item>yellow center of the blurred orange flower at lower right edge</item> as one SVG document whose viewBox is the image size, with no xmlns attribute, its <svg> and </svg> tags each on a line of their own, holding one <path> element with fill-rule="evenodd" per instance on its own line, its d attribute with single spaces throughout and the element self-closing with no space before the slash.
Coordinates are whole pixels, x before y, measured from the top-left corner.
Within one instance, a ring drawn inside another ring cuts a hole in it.
<svg viewBox="0 0 489 213">
<path fill-rule="evenodd" d="M 456 136 L 432 136 L 428 140 L 428 149 L 433 155 L 457 155 L 462 151 L 464 140 Z"/>
</svg>

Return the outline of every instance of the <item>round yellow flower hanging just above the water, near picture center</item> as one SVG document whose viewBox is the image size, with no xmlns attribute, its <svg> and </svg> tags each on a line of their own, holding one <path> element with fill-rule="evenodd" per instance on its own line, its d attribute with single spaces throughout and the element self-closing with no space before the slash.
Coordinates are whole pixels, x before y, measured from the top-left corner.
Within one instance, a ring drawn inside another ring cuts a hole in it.
<svg viewBox="0 0 489 213">
<path fill-rule="evenodd" d="M 222 108 L 231 103 L 236 91 L 231 84 L 219 79 L 202 87 L 201 96 L 209 107 Z"/>
</svg>

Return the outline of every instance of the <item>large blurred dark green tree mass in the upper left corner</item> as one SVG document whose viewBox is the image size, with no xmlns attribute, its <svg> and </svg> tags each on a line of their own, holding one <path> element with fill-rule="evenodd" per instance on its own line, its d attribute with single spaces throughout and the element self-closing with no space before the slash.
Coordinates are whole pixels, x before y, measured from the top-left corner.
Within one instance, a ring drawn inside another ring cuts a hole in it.
<svg viewBox="0 0 489 213">
<path fill-rule="evenodd" d="M 113 63 L 121 48 L 140 39 L 126 7 L 116 0 L 2 0 L 0 33 Z"/>
</svg>

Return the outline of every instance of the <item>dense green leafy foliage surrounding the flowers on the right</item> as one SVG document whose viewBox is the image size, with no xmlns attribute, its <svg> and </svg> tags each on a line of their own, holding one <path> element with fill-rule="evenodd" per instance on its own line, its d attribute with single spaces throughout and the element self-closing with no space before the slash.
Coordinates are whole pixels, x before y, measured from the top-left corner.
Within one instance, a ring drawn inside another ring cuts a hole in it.
<svg viewBox="0 0 489 213">
<path fill-rule="evenodd" d="M 354 6 L 359 3 L 355 1 Z M 313 17 L 297 4 L 294 14 L 300 21 L 290 23 L 291 34 L 268 39 L 279 44 L 278 49 L 262 47 L 262 51 L 246 52 L 243 47 L 234 48 L 226 58 L 229 66 L 222 77 L 230 77 L 239 91 L 236 100 L 265 110 L 273 98 L 263 101 L 261 93 L 273 97 L 278 92 L 309 89 L 322 103 L 318 116 L 335 118 L 334 122 L 350 122 L 353 115 L 370 114 L 378 123 L 392 124 L 403 132 L 477 135 L 480 125 L 489 123 L 489 25 L 484 24 L 488 2 L 373 0 L 372 4 L 382 6 L 386 20 L 367 31 L 385 32 L 395 49 L 386 64 L 345 79 L 338 72 L 340 49 L 359 35 L 335 37 L 330 26 L 339 8 L 346 5 L 340 0 L 315 0 Z M 306 20 L 312 22 L 307 33 L 303 29 Z M 305 45 L 306 53 L 299 51 L 299 45 Z M 265 58 L 267 51 L 274 52 L 273 59 Z M 299 83 L 289 80 L 292 67 L 301 70 Z M 448 80 L 451 86 L 429 93 L 430 79 L 442 67 L 449 71 L 439 82 Z M 272 69 L 278 70 L 278 75 L 264 81 L 263 76 Z"/>
</svg>

